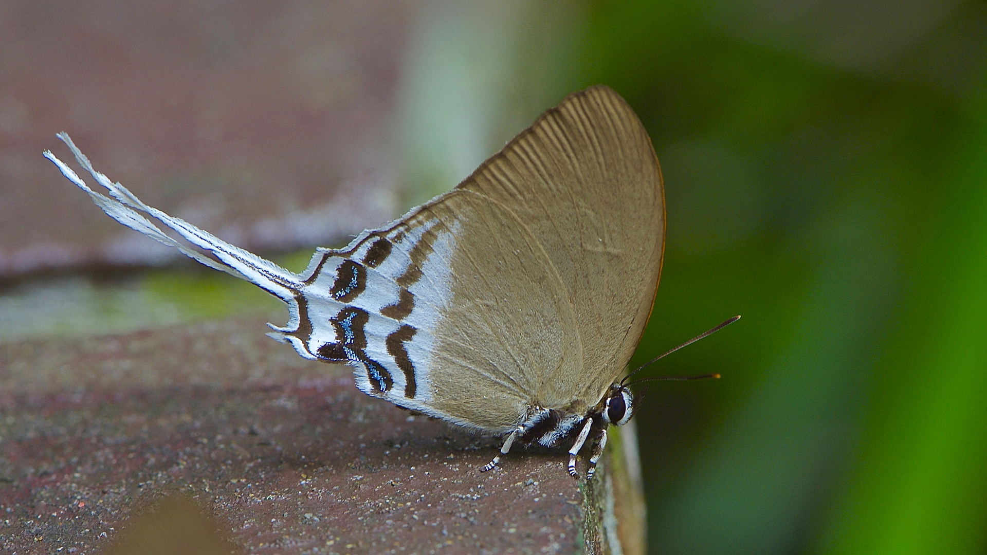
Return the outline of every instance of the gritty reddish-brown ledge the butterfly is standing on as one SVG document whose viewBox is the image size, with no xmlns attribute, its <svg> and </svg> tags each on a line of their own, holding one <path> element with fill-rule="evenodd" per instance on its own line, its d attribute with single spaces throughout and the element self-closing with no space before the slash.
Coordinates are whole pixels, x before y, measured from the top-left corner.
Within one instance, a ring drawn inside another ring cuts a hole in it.
<svg viewBox="0 0 987 555">
<path fill-rule="evenodd" d="M 181 495 L 252 553 L 607 551 L 626 479 L 580 490 L 565 453 L 541 449 L 481 474 L 495 439 L 367 397 L 263 331 L 235 318 L 0 345 L 4 549 L 93 553 Z M 611 537 L 643 537 L 625 520 Z"/>
</svg>

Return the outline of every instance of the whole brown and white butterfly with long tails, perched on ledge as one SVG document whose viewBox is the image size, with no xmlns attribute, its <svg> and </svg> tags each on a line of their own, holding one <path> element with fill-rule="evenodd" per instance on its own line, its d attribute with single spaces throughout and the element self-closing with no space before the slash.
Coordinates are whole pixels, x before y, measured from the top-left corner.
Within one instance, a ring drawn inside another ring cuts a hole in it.
<svg viewBox="0 0 987 555">
<path fill-rule="evenodd" d="M 452 191 L 318 249 L 300 274 L 148 206 L 58 137 L 110 196 L 44 156 L 111 217 L 284 301 L 288 322 L 267 335 L 349 364 L 370 396 L 505 436 L 483 471 L 514 442 L 539 443 L 569 445 L 578 477 L 588 444 L 591 477 L 608 427 L 634 415 L 616 380 L 657 291 L 665 202 L 645 127 L 608 87 L 569 95 Z"/>
</svg>

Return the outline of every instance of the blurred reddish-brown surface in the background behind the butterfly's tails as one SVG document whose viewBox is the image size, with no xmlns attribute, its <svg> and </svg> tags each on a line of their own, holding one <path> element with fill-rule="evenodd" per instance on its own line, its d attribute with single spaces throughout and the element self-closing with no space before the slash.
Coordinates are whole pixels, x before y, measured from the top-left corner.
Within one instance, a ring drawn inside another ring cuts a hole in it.
<svg viewBox="0 0 987 555">
<path fill-rule="evenodd" d="M 398 209 L 389 129 L 414 5 L 0 2 L 0 277 L 176 256 L 41 157 L 65 130 L 150 204 L 249 249 Z"/>
</svg>

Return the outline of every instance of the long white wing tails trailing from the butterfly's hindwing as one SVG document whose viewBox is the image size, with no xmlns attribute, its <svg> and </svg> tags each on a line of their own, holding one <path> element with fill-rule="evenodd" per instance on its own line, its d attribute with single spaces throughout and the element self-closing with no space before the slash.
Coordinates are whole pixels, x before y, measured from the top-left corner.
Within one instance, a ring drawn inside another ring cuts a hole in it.
<svg viewBox="0 0 987 555">
<path fill-rule="evenodd" d="M 90 164 L 89 159 L 76 148 L 67 133 L 62 131 L 57 136 L 72 150 L 72 154 L 75 155 L 75 159 L 79 162 L 79 165 L 85 168 L 97 183 L 105 187 L 110 192 L 112 198 L 90 189 L 71 168 L 56 158 L 54 154 L 51 154 L 50 151 L 45 150 L 44 157 L 54 162 L 62 175 L 77 185 L 79 189 L 89 194 L 89 197 L 96 202 L 96 205 L 103 208 L 103 211 L 107 212 L 110 217 L 131 229 L 147 235 L 151 239 L 175 247 L 189 258 L 209 268 L 221 270 L 237 278 L 246 279 L 257 284 L 287 303 L 288 310 L 291 313 L 290 319 L 297 319 L 298 308 L 295 294 L 303 284 L 302 279 L 298 275 L 254 253 L 233 246 L 215 235 L 195 227 L 182 218 L 170 216 L 153 206 L 148 206 L 140 198 L 136 198 L 132 193 L 127 191 L 125 187 L 119 183 L 113 183 L 110 181 L 110 178 L 93 169 L 93 165 Z M 186 238 L 192 245 L 211 252 L 218 261 L 190 249 L 173 239 L 137 210 L 146 212 L 160 220 L 168 227 L 177 231 L 182 237 Z"/>
</svg>

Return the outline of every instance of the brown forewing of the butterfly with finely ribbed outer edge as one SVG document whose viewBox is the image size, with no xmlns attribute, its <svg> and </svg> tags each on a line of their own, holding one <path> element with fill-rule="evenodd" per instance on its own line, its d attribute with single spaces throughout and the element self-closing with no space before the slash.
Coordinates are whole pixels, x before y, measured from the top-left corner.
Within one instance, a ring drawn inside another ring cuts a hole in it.
<svg viewBox="0 0 987 555">
<path fill-rule="evenodd" d="M 528 369 L 536 397 L 596 403 L 634 354 L 661 272 L 664 193 L 641 120 L 608 87 L 569 95 L 457 189 L 509 209 L 565 287 L 581 363 Z"/>
</svg>

